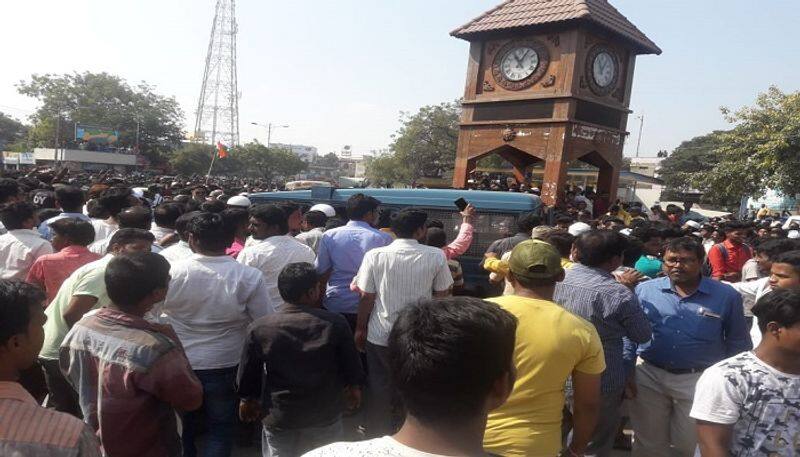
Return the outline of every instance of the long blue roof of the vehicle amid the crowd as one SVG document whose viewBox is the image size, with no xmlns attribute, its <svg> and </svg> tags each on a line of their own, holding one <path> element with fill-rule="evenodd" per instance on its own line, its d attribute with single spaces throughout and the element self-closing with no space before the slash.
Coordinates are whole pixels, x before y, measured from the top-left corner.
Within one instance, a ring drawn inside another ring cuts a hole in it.
<svg viewBox="0 0 800 457">
<path fill-rule="evenodd" d="M 253 203 L 289 200 L 307 203 L 343 204 L 350 196 L 359 193 L 375 197 L 385 205 L 397 206 L 455 208 L 454 202 L 461 197 L 474 205 L 476 209 L 484 211 L 521 213 L 538 211 L 542 206 L 541 200 L 536 195 L 459 189 L 317 188 L 286 192 L 261 192 L 250 194 L 248 198 L 250 198 Z"/>
</svg>

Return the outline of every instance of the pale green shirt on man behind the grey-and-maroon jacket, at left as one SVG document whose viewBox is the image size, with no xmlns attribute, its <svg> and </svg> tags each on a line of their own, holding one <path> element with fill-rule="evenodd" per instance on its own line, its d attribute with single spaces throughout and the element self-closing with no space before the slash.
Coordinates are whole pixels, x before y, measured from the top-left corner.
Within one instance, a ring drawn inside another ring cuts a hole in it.
<svg viewBox="0 0 800 457">
<path fill-rule="evenodd" d="M 105 274 L 106 265 L 112 258 L 112 255 L 106 255 L 100 260 L 78 268 L 58 289 L 56 298 L 44 311 L 47 315 L 47 322 L 44 324 L 44 345 L 39 352 L 39 357 L 58 360 L 59 347 L 69 332 L 67 322 L 64 320 L 64 311 L 67 310 L 74 295 L 88 295 L 97 298 L 97 303 L 92 309 L 102 308 L 111 303 L 108 293 L 106 293 Z"/>
</svg>

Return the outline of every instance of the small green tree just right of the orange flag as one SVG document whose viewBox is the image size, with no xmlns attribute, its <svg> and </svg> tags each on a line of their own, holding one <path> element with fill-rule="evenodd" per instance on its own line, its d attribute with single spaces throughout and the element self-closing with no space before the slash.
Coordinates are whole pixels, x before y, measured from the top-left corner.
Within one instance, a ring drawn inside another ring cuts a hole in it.
<svg viewBox="0 0 800 457">
<path fill-rule="evenodd" d="M 296 175 L 308 166 L 291 151 L 267 148 L 258 141 L 233 148 L 230 155 L 241 161 L 246 174 L 256 174 L 270 182 Z"/>
</svg>

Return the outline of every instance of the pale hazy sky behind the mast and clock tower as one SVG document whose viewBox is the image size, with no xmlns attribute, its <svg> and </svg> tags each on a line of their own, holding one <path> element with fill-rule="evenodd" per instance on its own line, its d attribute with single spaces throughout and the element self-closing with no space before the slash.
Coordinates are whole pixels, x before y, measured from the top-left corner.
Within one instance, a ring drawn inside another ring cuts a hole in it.
<svg viewBox="0 0 800 457">
<path fill-rule="evenodd" d="M 449 36 L 500 0 L 239 0 L 241 140 L 387 147 L 401 112 L 463 95 L 468 43 Z M 146 81 L 183 107 L 187 130 L 203 76 L 214 0 L 0 2 L 0 111 L 25 119 L 33 73 L 105 71 Z M 625 153 L 640 155 L 729 124 L 721 106 L 770 85 L 800 86 L 797 0 L 611 0 L 664 51 L 636 63 Z"/>
</svg>

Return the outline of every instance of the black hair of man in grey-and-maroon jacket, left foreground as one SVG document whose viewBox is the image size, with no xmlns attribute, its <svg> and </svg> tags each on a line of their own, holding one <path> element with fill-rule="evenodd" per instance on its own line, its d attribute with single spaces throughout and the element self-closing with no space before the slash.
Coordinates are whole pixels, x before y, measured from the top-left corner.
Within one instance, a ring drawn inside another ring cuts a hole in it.
<svg viewBox="0 0 800 457">
<path fill-rule="evenodd" d="M 133 308 L 156 289 L 169 285 L 169 262 L 153 252 L 115 256 L 105 273 L 108 298 L 120 308 Z"/>
</svg>

